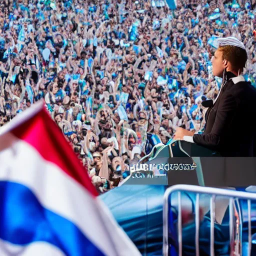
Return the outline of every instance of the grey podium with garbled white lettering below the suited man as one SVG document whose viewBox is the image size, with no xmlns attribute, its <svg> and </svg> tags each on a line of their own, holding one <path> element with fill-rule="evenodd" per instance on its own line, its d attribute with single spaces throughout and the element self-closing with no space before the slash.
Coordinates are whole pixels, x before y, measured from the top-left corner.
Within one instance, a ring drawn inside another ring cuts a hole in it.
<svg viewBox="0 0 256 256">
<path fill-rule="evenodd" d="M 221 157 L 208 148 L 178 140 L 155 145 L 138 162 L 138 169 L 130 167 L 130 172 L 129 184 L 247 187 L 256 185 L 256 157 Z"/>
</svg>

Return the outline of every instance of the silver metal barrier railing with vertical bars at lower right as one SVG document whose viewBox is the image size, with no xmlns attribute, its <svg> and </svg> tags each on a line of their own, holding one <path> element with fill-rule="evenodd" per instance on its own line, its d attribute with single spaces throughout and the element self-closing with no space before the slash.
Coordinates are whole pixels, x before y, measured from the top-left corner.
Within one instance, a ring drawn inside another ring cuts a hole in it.
<svg viewBox="0 0 256 256">
<path fill-rule="evenodd" d="M 232 255 L 237 255 L 234 246 L 234 218 L 238 219 L 239 229 L 237 232 L 238 239 L 241 239 L 242 232 L 242 221 L 241 221 L 241 209 L 238 199 L 246 199 L 248 206 L 248 252 L 247 255 L 250 256 L 251 252 L 251 200 L 256 200 L 256 193 L 243 192 L 236 190 L 229 190 L 223 188 L 213 188 L 213 187 L 203 187 L 195 185 L 173 185 L 166 189 L 164 193 L 163 201 L 163 255 L 169 255 L 169 241 L 168 241 L 168 217 L 169 217 L 169 201 L 170 196 L 173 192 L 177 192 L 177 239 L 178 239 L 178 255 L 182 256 L 182 216 L 181 216 L 181 191 L 195 193 L 195 254 L 199 256 L 199 225 L 200 225 L 200 215 L 199 215 L 199 196 L 200 194 L 209 194 L 210 196 L 210 256 L 214 256 L 214 223 L 215 223 L 215 199 L 216 196 L 226 196 L 229 197 L 229 241 L 230 249 L 233 251 Z M 235 203 L 237 206 L 235 206 Z M 237 211 L 235 208 L 237 207 Z M 240 244 L 240 245 L 239 245 Z M 237 247 L 238 246 L 238 247 Z M 241 253 L 242 245 L 241 242 L 236 243 L 236 250 Z M 240 255 L 238 253 L 238 255 Z"/>
</svg>

